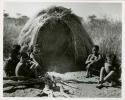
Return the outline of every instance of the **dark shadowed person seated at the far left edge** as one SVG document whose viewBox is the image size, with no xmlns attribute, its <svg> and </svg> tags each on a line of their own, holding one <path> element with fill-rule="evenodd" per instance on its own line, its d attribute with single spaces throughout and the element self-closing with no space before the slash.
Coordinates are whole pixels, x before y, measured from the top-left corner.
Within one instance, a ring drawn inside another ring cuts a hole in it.
<svg viewBox="0 0 125 100">
<path fill-rule="evenodd" d="M 5 61 L 4 71 L 6 76 L 15 76 L 15 68 L 20 57 L 20 48 L 20 45 L 14 45 L 9 58 Z"/>
</svg>

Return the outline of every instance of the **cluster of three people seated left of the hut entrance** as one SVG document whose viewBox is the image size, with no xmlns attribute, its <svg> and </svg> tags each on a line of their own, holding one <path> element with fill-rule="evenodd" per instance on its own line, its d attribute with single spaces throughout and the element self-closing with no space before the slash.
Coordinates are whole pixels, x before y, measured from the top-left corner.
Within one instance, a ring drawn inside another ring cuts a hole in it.
<svg viewBox="0 0 125 100">
<path fill-rule="evenodd" d="M 6 76 L 25 76 L 37 78 L 40 71 L 39 64 L 31 57 L 32 52 L 26 52 L 20 45 L 14 45 L 9 58 L 4 63 Z"/>
</svg>

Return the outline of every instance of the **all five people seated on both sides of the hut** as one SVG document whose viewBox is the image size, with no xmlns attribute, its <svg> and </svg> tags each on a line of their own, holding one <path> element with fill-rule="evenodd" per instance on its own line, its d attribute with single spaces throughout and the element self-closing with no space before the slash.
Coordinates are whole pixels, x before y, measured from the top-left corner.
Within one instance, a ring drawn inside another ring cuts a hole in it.
<svg viewBox="0 0 125 100">
<path fill-rule="evenodd" d="M 20 45 L 14 45 L 9 55 L 9 58 L 5 61 L 4 71 L 6 76 L 25 76 L 31 78 L 38 78 L 40 75 L 41 67 L 35 61 L 32 56 L 32 52 L 27 52 L 25 48 L 21 50 Z M 90 78 L 95 70 L 100 65 L 102 59 L 99 54 L 99 46 L 95 45 L 92 48 L 92 54 L 90 54 L 85 62 L 86 64 L 86 78 Z M 101 62 L 102 63 L 102 62 Z M 106 54 L 104 58 L 104 64 L 101 66 L 100 79 L 97 88 L 102 88 L 103 83 L 110 81 L 111 83 L 118 81 L 118 69 L 116 66 L 116 56 L 114 54 Z"/>
</svg>

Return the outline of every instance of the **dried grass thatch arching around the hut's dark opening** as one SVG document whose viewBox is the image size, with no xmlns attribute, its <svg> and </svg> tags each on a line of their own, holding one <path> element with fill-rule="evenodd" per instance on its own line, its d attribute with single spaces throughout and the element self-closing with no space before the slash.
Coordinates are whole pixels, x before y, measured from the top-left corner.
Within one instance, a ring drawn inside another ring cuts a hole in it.
<svg viewBox="0 0 125 100">
<path fill-rule="evenodd" d="M 83 57 L 85 60 L 91 51 L 93 42 L 85 31 L 81 18 L 72 13 L 71 9 L 64 7 L 50 7 L 36 14 L 22 29 L 19 44 L 29 43 L 30 46 L 35 45 L 39 30 L 48 23 L 51 24 L 57 20 L 65 23 L 72 33 L 75 57 Z"/>
</svg>

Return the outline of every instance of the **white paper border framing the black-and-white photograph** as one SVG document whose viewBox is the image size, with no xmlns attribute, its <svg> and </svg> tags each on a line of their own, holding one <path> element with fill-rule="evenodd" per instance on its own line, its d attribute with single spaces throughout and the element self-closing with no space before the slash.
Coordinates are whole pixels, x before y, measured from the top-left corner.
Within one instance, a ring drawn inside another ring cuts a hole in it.
<svg viewBox="0 0 125 100">
<path fill-rule="evenodd" d="M 96 3 L 122 3 L 122 95 L 121 98 L 67 98 L 68 100 L 125 100 L 125 1 L 124 0 L 0 0 L 0 100 L 55 100 L 55 98 L 42 98 L 42 97 L 3 97 L 3 8 L 4 2 L 96 2 Z M 96 91 L 95 91 L 96 92 Z M 65 100 L 66 98 L 56 98 L 58 100 Z"/>
</svg>

